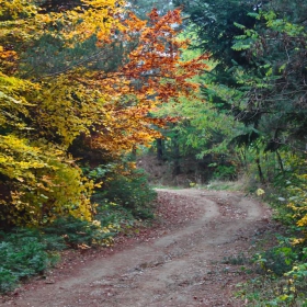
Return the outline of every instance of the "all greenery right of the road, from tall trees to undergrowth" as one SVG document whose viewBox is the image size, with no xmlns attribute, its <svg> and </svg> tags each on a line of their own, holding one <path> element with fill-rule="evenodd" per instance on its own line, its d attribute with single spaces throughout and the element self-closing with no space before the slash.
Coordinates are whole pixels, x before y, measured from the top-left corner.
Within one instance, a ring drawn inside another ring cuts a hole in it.
<svg viewBox="0 0 307 307">
<path fill-rule="evenodd" d="M 255 251 L 248 306 L 307 306 L 307 7 L 304 1 L 174 1 L 190 54 L 209 54 L 194 100 L 162 105 L 179 118 L 156 141 L 155 184 L 240 190 L 284 225 Z M 141 166 L 146 163 L 143 159 Z M 146 168 L 148 169 L 148 168 Z M 277 230 L 276 230 L 277 231 Z"/>
</svg>

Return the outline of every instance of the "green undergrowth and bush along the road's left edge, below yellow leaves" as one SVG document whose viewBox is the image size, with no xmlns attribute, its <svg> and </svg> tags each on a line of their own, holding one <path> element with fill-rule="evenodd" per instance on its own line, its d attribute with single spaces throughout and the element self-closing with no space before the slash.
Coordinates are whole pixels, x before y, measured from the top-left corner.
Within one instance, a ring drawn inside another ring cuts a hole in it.
<svg viewBox="0 0 307 307">
<path fill-rule="evenodd" d="M 107 171 L 98 167 L 91 174 L 100 181 Z M 143 171 L 113 172 L 92 197 L 95 213 L 91 221 L 66 216 L 44 227 L 0 231 L 0 293 L 42 274 L 59 261 L 64 249 L 112 246 L 116 234 L 154 217 L 155 198 Z"/>
</svg>

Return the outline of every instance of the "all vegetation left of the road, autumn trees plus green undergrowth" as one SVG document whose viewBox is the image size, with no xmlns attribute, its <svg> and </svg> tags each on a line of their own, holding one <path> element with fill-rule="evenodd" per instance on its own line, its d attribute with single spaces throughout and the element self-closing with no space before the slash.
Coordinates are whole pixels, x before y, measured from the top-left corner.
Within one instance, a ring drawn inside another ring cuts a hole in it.
<svg viewBox="0 0 307 307">
<path fill-rule="evenodd" d="M 0 292 L 154 217 L 135 151 L 205 67 L 181 60 L 180 23 L 124 1 L 0 1 Z"/>
</svg>

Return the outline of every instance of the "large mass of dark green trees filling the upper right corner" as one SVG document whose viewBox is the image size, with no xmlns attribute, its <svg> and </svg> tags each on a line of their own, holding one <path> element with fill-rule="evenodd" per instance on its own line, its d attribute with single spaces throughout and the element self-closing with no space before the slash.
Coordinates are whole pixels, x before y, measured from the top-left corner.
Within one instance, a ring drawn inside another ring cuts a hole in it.
<svg viewBox="0 0 307 307">
<path fill-rule="evenodd" d="M 243 124 L 231 144 L 258 148 L 259 154 L 274 151 L 280 161 L 283 146 L 304 150 L 306 4 L 275 0 L 219 4 L 184 2 L 197 34 L 194 45 L 217 60 L 205 78 L 209 86 L 204 96 Z"/>
</svg>

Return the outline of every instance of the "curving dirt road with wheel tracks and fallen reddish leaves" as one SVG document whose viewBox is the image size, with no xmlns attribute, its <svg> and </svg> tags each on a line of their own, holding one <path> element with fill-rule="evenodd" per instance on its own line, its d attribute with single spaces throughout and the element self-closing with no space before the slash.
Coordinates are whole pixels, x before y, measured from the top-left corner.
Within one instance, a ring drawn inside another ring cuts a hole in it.
<svg viewBox="0 0 307 307">
<path fill-rule="evenodd" d="M 58 268 L 0 306 L 245 306 L 231 293 L 246 276 L 223 259 L 246 252 L 270 212 L 238 193 L 158 192 L 159 226 L 148 236 L 110 254 L 67 260 L 65 274 Z"/>
</svg>

